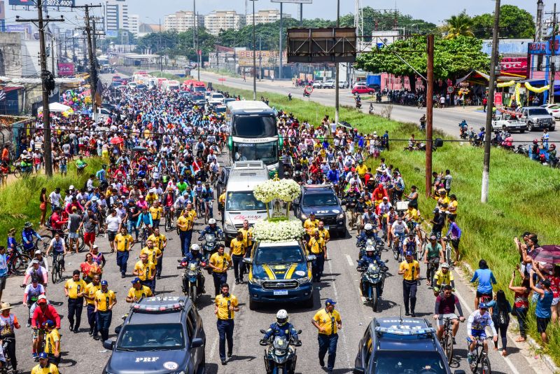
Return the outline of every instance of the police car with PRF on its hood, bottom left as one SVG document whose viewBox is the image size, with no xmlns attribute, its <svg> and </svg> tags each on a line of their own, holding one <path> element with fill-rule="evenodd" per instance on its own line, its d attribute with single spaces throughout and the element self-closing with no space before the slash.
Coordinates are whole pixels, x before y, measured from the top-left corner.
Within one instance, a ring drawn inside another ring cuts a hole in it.
<svg viewBox="0 0 560 374">
<path fill-rule="evenodd" d="M 116 340 L 104 374 L 202 374 L 206 335 L 190 298 L 142 298 L 134 303 Z"/>
</svg>

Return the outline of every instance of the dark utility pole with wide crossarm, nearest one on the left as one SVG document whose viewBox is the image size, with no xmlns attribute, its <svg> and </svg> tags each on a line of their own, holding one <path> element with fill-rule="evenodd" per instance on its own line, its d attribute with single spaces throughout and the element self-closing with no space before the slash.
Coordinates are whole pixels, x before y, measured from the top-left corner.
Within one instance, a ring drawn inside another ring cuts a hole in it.
<svg viewBox="0 0 560 374">
<path fill-rule="evenodd" d="M 15 22 L 33 22 L 39 29 L 39 48 L 41 59 L 41 81 L 43 82 L 43 153 L 45 157 L 45 175 L 52 176 L 52 145 L 50 142 L 50 110 L 48 107 L 48 95 L 55 89 L 55 79 L 47 70 L 47 53 L 45 46 L 45 28 L 49 22 L 64 22 L 64 17 L 43 20 L 43 0 L 36 0 L 37 18 L 34 20 L 22 20 L 20 16 L 15 17 Z M 51 48 L 52 49 L 52 48 Z M 52 50 L 51 50 L 52 53 Z"/>
</svg>

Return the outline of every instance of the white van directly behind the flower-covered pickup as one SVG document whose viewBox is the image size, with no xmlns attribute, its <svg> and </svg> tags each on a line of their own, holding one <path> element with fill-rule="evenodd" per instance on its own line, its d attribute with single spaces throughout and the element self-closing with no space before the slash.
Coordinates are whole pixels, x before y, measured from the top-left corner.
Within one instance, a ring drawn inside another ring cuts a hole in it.
<svg viewBox="0 0 560 374">
<path fill-rule="evenodd" d="M 223 230 L 228 240 L 237 235 L 244 220 L 248 220 L 249 226 L 253 226 L 258 219 L 267 218 L 267 207 L 264 202 L 255 198 L 253 189 L 266 181 L 268 174 L 267 166 L 262 161 L 235 162 L 226 186 L 222 215 Z"/>
</svg>

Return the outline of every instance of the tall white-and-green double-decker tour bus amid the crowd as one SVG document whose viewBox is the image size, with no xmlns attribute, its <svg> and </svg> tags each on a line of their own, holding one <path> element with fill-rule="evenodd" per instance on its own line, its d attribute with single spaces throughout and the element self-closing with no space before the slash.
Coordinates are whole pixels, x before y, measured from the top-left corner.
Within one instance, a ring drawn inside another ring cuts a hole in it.
<svg viewBox="0 0 560 374">
<path fill-rule="evenodd" d="M 228 102 L 225 120 L 229 125 L 228 141 L 231 163 L 262 160 L 272 176 L 278 172 L 279 145 L 274 111 L 264 102 L 241 100 Z"/>
</svg>

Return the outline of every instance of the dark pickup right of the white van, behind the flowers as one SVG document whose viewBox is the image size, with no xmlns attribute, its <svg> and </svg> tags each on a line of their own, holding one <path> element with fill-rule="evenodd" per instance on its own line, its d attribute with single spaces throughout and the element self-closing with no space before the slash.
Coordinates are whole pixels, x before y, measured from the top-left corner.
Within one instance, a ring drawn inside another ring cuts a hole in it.
<svg viewBox="0 0 560 374">
<path fill-rule="evenodd" d="M 332 184 L 303 185 L 300 198 L 293 202 L 294 215 L 302 222 L 313 212 L 329 232 L 346 235 L 346 214 Z"/>
</svg>

